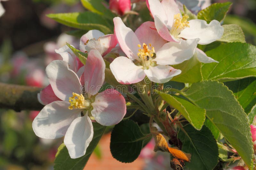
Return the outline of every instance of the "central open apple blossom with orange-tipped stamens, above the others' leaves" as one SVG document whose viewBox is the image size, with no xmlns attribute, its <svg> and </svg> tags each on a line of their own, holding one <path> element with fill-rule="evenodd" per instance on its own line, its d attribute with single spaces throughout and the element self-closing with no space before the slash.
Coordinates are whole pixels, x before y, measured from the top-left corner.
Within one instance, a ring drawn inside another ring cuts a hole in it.
<svg viewBox="0 0 256 170">
<path fill-rule="evenodd" d="M 199 39 L 169 42 L 161 38 L 153 22 L 143 23 L 135 33 L 121 18 L 114 18 L 117 41 L 127 57 L 117 57 L 110 69 L 122 84 L 136 83 L 147 75 L 149 80 L 164 83 L 181 73 L 169 65 L 179 64 L 194 55 Z"/>
</svg>

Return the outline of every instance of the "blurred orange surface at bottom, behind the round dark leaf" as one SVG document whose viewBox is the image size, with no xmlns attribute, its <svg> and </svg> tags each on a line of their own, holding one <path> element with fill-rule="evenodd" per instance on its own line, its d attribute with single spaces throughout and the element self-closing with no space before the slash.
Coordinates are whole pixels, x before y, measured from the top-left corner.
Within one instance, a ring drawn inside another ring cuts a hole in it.
<svg viewBox="0 0 256 170">
<path fill-rule="evenodd" d="M 132 163 L 122 163 L 112 157 L 110 152 L 110 133 L 102 136 L 100 139 L 100 152 L 102 158 L 99 159 L 92 153 L 84 170 L 141 170 L 145 162 L 143 159 L 138 158 Z"/>
</svg>

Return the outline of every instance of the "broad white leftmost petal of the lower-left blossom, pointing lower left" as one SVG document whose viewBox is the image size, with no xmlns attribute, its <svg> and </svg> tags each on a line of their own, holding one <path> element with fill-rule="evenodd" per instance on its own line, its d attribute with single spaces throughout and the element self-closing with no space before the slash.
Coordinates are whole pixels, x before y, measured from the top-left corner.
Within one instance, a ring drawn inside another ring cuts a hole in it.
<svg viewBox="0 0 256 170">
<path fill-rule="evenodd" d="M 36 136 L 46 139 L 61 138 L 71 122 L 81 113 L 80 109 L 69 110 L 69 102 L 55 101 L 44 106 L 32 123 Z"/>
</svg>

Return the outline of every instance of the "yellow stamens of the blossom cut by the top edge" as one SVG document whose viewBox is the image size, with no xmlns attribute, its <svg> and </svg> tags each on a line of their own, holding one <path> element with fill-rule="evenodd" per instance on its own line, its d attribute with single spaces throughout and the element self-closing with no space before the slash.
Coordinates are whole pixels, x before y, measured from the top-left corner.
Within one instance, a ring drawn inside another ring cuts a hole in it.
<svg viewBox="0 0 256 170">
<path fill-rule="evenodd" d="M 172 29 L 170 30 L 172 36 L 177 38 L 182 30 L 184 30 L 186 27 L 189 27 L 189 22 L 187 21 L 188 18 L 189 16 L 187 14 L 182 16 L 182 18 L 180 17 L 180 13 L 174 15 Z"/>
</svg>

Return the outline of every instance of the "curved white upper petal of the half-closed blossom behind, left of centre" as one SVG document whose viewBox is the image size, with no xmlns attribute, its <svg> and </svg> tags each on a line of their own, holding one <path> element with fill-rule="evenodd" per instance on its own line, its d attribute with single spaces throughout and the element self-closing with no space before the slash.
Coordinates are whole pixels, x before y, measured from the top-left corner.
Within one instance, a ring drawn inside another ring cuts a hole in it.
<svg viewBox="0 0 256 170">
<path fill-rule="evenodd" d="M 99 30 L 90 30 L 86 34 L 84 34 L 80 39 L 80 51 L 85 52 L 85 46 L 90 39 L 98 39 L 99 37 L 105 35 L 103 32 Z"/>
</svg>

